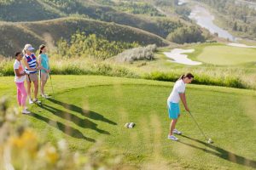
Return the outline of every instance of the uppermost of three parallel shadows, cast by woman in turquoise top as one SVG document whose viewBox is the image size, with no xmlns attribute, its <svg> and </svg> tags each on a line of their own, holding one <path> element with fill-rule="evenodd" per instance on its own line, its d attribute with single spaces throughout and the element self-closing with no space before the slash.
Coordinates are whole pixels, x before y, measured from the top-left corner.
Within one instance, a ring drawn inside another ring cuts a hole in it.
<svg viewBox="0 0 256 170">
<path fill-rule="evenodd" d="M 96 113 L 94 111 L 87 111 L 87 110 L 84 110 L 83 108 L 81 108 L 77 105 L 67 104 L 65 102 L 61 102 L 61 101 L 51 99 L 51 98 L 49 98 L 48 100 L 57 104 L 57 105 L 62 105 L 67 110 L 78 112 L 79 114 L 81 114 L 83 116 L 86 116 L 90 119 L 94 119 L 94 120 L 102 121 L 102 122 L 108 122 L 109 124 L 112 124 L 112 125 L 117 125 L 116 122 L 110 121 L 106 117 L 104 117 L 104 116 L 102 116 L 99 113 Z"/>
</svg>

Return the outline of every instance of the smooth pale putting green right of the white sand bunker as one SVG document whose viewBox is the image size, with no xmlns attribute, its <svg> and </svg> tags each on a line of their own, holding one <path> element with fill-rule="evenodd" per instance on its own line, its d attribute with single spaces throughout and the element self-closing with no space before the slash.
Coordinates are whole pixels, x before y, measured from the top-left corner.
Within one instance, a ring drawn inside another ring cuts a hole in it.
<svg viewBox="0 0 256 170">
<path fill-rule="evenodd" d="M 203 48 L 197 59 L 212 65 L 241 65 L 256 62 L 255 48 L 237 48 L 230 46 L 208 46 Z"/>
</svg>

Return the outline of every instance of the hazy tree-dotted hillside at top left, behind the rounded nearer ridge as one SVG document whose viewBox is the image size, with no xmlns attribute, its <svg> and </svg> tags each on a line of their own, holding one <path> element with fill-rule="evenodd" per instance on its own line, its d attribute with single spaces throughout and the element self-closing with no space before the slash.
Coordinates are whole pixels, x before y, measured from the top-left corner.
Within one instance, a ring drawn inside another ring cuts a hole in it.
<svg viewBox="0 0 256 170">
<path fill-rule="evenodd" d="M 8 3 L 4 3 L 8 2 Z M 49 0 L 17 0 L 0 1 L 0 20 L 4 21 L 37 21 L 56 19 L 72 14 L 83 15 L 90 19 L 114 22 L 120 25 L 132 26 L 144 31 L 152 32 L 166 38 L 168 33 L 156 20 L 149 17 L 141 17 L 136 14 L 128 14 L 122 10 L 116 10 L 109 6 L 86 1 L 49 1 Z M 17 12 L 16 12 L 17 11 Z M 28 12 L 29 11 L 29 12 Z M 174 27 L 177 21 L 169 21 Z"/>
</svg>

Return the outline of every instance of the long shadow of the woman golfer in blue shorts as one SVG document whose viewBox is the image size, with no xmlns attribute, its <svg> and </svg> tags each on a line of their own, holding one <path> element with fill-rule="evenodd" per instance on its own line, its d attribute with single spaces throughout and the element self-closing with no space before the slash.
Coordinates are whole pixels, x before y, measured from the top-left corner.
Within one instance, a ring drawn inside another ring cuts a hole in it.
<svg viewBox="0 0 256 170">
<path fill-rule="evenodd" d="M 216 152 L 212 151 L 212 150 L 207 150 L 206 148 L 201 148 L 201 147 L 195 146 L 193 144 L 187 144 L 187 143 L 184 143 L 182 141 L 179 141 L 179 143 L 189 145 L 190 147 L 193 147 L 193 148 L 198 149 L 198 150 L 203 150 L 203 151 L 205 151 L 209 154 L 212 154 L 214 156 L 218 156 L 218 157 L 220 157 L 222 159 L 225 159 L 227 161 L 232 161 L 234 163 L 237 163 L 237 164 L 240 164 L 240 165 L 243 165 L 243 166 L 256 168 L 256 161 L 254 161 L 254 160 L 251 160 L 251 159 L 248 159 L 248 158 L 242 157 L 242 156 L 237 156 L 236 154 L 234 154 L 234 153 L 232 153 L 228 150 L 224 150 L 224 149 L 219 148 L 217 146 L 214 146 L 212 144 L 207 144 L 207 143 L 202 142 L 201 140 L 198 140 L 198 139 L 193 139 L 193 138 L 190 138 L 190 137 L 185 136 L 185 135 L 181 135 L 181 136 L 183 136 L 186 139 L 190 139 L 190 140 L 193 140 L 195 142 L 198 142 L 200 144 L 204 144 L 208 148 L 211 148 L 212 150 L 215 150 Z"/>
</svg>

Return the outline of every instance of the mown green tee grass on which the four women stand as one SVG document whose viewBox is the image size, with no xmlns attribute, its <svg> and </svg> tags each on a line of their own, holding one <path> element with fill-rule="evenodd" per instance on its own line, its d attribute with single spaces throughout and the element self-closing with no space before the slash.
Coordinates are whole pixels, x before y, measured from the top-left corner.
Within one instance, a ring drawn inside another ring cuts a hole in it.
<svg viewBox="0 0 256 170">
<path fill-rule="evenodd" d="M 67 139 L 84 151 L 101 141 L 104 151 L 119 150 L 125 164 L 143 169 L 250 169 L 256 167 L 256 93 L 253 90 L 189 85 L 190 109 L 215 142 L 205 144 L 188 114 L 177 127 L 180 142 L 166 139 L 166 98 L 173 83 L 94 76 L 54 76 L 55 99 L 32 105 L 32 124 L 42 140 Z M 0 77 L 0 96 L 15 104 L 13 77 Z M 50 93 L 50 86 L 47 85 Z M 126 129 L 125 122 L 136 122 Z"/>
</svg>

